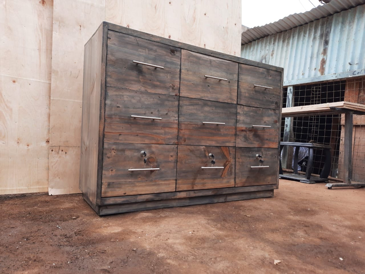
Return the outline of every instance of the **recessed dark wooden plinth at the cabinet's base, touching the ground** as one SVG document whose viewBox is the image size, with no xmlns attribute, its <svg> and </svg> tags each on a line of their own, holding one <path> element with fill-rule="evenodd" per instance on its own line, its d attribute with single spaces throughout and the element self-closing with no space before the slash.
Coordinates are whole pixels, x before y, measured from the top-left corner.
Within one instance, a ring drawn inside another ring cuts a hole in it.
<svg viewBox="0 0 365 274">
<path fill-rule="evenodd" d="M 274 195 L 274 190 L 265 190 L 265 191 L 232 193 L 232 194 L 222 194 L 222 195 L 212 195 L 212 196 L 202 196 L 202 197 L 189 197 L 181 199 L 127 203 L 122 205 L 105 205 L 99 207 L 100 212 L 98 214 L 107 215 L 115 213 L 133 212 L 138 210 L 171 208 L 175 206 L 201 205 L 204 203 L 239 201 L 246 199 L 273 197 L 273 195 Z"/>
</svg>

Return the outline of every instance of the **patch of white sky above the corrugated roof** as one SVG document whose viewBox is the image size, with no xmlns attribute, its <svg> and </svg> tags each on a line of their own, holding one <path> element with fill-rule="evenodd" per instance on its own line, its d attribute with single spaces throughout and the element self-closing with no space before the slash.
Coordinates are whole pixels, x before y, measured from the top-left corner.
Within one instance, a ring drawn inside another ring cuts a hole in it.
<svg viewBox="0 0 365 274">
<path fill-rule="evenodd" d="M 319 5 L 318 0 L 242 0 L 242 25 L 263 26 Z"/>
</svg>

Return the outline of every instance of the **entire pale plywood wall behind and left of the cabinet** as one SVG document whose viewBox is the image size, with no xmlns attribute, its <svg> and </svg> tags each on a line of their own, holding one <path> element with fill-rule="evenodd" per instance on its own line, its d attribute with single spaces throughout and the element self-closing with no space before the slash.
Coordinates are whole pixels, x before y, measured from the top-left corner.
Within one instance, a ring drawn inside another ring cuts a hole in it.
<svg viewBox="0 0 365 274">
<path fill-rule="evenodd" d="M 84 44 L 104 20 L 240 55 L 241 0 L 0 1 L 0 194 L 80 192 Z"/>
</svg>

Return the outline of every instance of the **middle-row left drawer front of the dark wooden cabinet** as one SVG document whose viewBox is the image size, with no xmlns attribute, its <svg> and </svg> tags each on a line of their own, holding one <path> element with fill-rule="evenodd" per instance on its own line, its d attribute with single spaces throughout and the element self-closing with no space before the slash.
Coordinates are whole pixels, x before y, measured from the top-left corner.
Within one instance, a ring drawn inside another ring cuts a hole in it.
<svg viewBox="0 0 365 274">
<path fill-rule="evenodd" d="M 177 144 L 177 110 L 178 96 L 107 87 L 104 141 Z"/>
</svg>

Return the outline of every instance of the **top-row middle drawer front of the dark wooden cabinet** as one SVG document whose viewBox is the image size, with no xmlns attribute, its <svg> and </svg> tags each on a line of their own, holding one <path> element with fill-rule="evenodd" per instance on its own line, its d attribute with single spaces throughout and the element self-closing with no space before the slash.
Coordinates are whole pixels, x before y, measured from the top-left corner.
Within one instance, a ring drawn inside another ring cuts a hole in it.
<svg viewBox="0 0 365 274">
<path fill-rule="evenodd" d="M 226 80 L 207 78 L 219 77 Z M 238 63 L 181 51 L 180 95 L 190 98 L 237 103 Z"/>
</svg>

